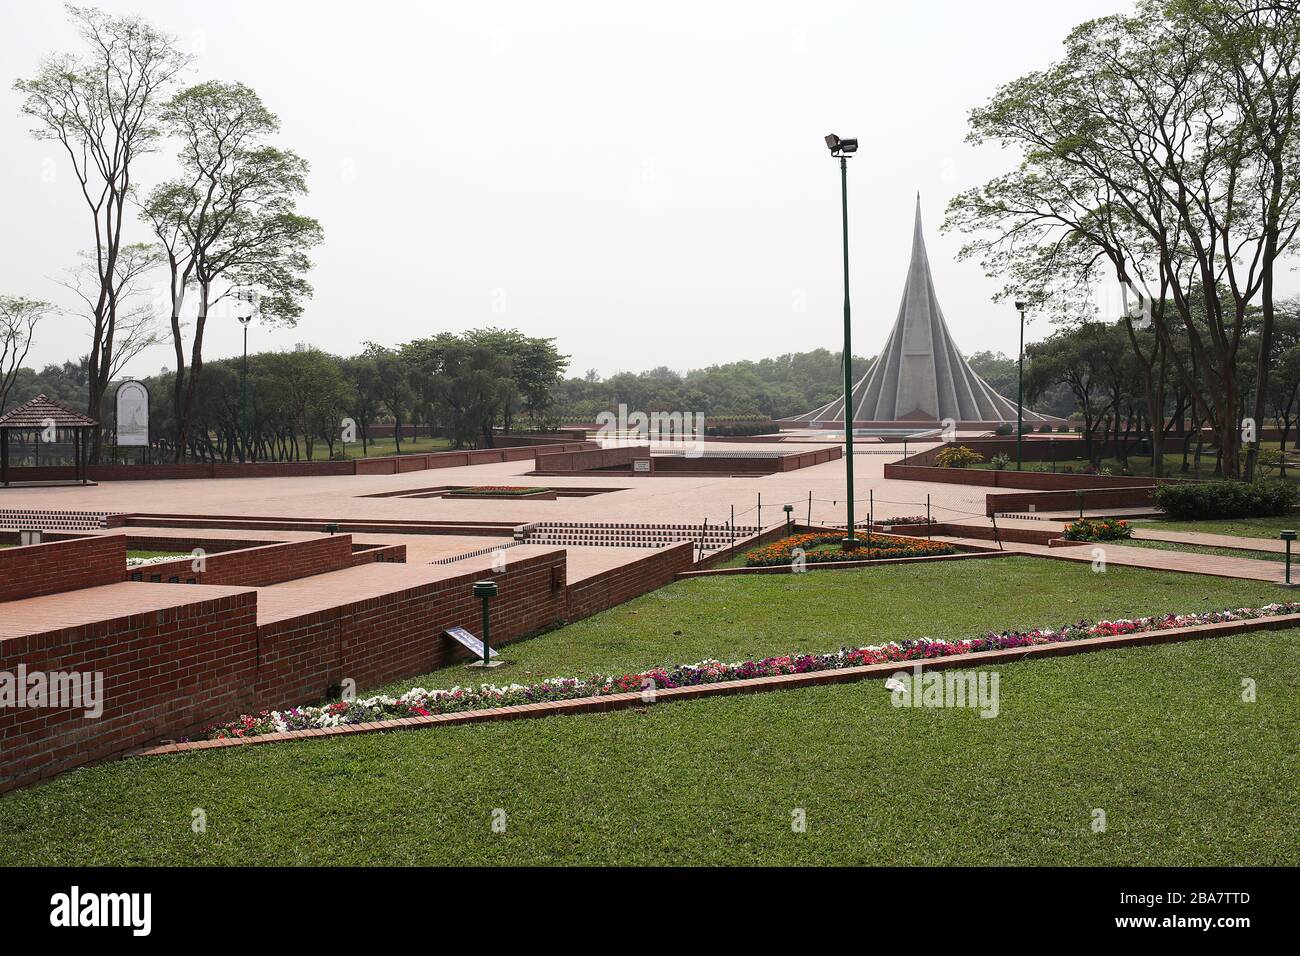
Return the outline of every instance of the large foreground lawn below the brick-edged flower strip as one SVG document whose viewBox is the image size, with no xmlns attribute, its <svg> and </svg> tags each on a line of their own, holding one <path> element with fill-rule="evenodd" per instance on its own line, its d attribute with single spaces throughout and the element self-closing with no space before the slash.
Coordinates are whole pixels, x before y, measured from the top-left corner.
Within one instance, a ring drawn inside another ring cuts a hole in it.
<svg viewBox="0 0 1300 956">
<path fill-rule="evenodd" d="M 0 864 L 1300 864 L 1300 632 L 998 674 L 118 761 L 0 799 Z"/>
</svg>

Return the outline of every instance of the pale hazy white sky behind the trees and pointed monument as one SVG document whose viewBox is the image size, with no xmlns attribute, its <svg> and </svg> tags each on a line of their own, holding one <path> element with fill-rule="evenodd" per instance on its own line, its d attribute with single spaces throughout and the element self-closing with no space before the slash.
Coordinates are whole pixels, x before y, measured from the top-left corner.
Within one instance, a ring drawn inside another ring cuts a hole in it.
<svg viewBox="0 0 1300 956">
<path fill-rule="evenodd" d="M 503 325 L 556 337 L 573 373 L 608 375 L 838 347 L 829 131 L 862 143 L 849 169 L 854 351 L 875 354 L 893 323 L 919 190 L 958 346 L 1013 354 L 998 284 L 939 233 L 953 194 L 1011 161 L 963 142 L 966 113 L 1056 57 L 1071 26 L 1126 3 L 100 7 L 177 35 L 194 81 L 252 86 L 282 120 L 281 144 L 312 164 L 316 294 L 296 329 L 254 326 L 252 349 L 352 352 Z M 75 46 L 61 4 L 5 0 L 0 291 L 69 304 L 55 280 L 90 245 L 88 215 L 9 86 Z M 138 178 L 170 174 L 172 155 Z M 75 317 L 52 321 L 29 364 L 79 355 L 86 336 Z M 237 351 L 238 323 L 209 323 L 208 358 Z M 166 364 L 162 346 L 131 371 Z"/>
</svg>

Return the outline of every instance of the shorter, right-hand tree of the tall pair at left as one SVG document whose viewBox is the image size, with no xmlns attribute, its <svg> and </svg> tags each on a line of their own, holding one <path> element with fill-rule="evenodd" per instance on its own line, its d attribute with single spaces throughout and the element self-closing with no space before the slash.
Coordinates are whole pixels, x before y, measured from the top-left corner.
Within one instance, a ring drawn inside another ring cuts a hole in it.
<svg viewBox="0 0 1300 956">
<path fill-rule="evenodd" d="M 170 272 L 172 345 L 176 352 L 177 450 L 186 434 L 203 373 L 203 339 L 212 307 L 235 290 L 257 294 L 264 323 L 292 325 L 311 295 L 303 278 L 320 224 L 296 209 L 307 193 L 307 163 L 268 146 L 280 121 L 243 83 L 205 82 L 168 101 L 162 118 L 181 143 L 181 177 L 150 195 L 144 213 Z M 188 364 L 182 312 L 190 287 L 196 310 Z"/>
</svg>

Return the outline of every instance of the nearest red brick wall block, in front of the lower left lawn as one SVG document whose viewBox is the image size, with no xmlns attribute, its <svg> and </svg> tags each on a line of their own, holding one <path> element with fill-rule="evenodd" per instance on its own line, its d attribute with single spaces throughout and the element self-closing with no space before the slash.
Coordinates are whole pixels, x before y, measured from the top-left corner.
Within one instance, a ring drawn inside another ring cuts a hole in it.
<svg viewBox="0 0 1300 956">
<path fill-rule="evenodd" d="M 118 545 L 121 541 L 118 540 Z M 0 792 L 252 704 L 256 592 L 0 640 L 0 670 L 99 671 L 104 711 L 0 708 Z"/>
</svg>

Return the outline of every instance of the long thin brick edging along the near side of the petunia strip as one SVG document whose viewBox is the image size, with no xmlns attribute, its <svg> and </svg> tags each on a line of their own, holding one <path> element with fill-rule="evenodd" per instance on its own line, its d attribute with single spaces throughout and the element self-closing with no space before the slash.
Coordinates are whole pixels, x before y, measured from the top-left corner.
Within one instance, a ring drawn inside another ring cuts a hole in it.
<svg viewBox="0 0 1300 956">
<path fill-rule="evenodd" d="M 655 691 L 654 702 L 659 704 L 675 700 L 694 700 L 697 697 L 720 697 L 736 693 L 763 693 L 767 691 L 786 691 L 801 687 L 819 687 L 823 684 L 848 684 L 858 680 L 887 678 L 898 671 L 913 670 L 918 666 L 923 671 L 953 669 L 965 670 L 972 666 L 970 662 L 974 662 L 974 666 L 979 666 L 982 663 L 1015 663 L 1026 658 L 1063 657 L 1069 654 L 1084 654 L 1095 650 L 1113 650 L 1117 648 L 1178 644 L 1182 641 L 1205 640 L 1210 637 L 1227 637 L 1251 631 L 1284 631 L 1290 627 L 1300 627 L 1300 614 L 1282 614 L 1271 618 L 1252 618 L 1248 620 L 1223 620 L 1214 624 L 1190 624 L 1187 627 L 1170 627 L 1160 631 L 1139 631 L 1135 633 L 1114 635 L 1109 637 L 1084 637 L 1078 641 L 1037 644 L 1028 648 L 976 650 L 970 654 L 950 654 L 948 657 L 931 657 L 916 661 L 889 661 L 885 663 L 815 671 L 811 674 L 780 674 L 767 678 L 753 678 L 750 680 L 723 680 L 716 684 L 675 687 Z M 403 717 L 391 721 L 352 723 L 320 730 L 295 730 L 281 734 L 263 734 L 261 736 L 254 737 L 226 737 L 222 740 L 192 740 L 188 743 L 160 744 L 157 747 L 130 750 L 125 756 L 160 757 L 173 753 L 187 753 L 191 750 L 246 747 L 250 744 L 278 744 L 291 740 L 309 740 L 313 737 L 382 734 L 394 730 L 421 730 L 424 727 L 482 723 L 486 721 L 521 721 L 533 717 L 555 717 L 559 714 L 606 713 L 611 710 L 627 710 L 629 708 L 647 705 L 649 704 L 642 700 L 641 692 L 633 691 L 629 693 L 610 693 L 599 697 L 577 697 L 573 700 L 546 701 L 541 704 L 516 704 L 504 708 L 463 710 L 454 714 Z"/>
</svg>

